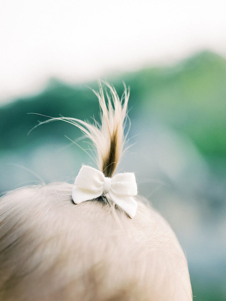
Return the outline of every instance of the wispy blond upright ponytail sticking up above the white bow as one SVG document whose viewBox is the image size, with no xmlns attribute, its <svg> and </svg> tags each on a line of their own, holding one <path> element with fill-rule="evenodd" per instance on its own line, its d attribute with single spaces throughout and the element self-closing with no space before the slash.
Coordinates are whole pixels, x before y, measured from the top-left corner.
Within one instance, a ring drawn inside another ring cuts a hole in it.
<svg viewBox="0 0 226 301">
<path fill-rule="evenodd" d="M 101 123 L 94 120 L 94 124 L 91 124 L 76 118 L 60 117 L 41 122 L 33 129 L 54 120 L 62 120 L 77 126 L 94 145 L 95 163 L 98 169 L 106 177 L 111 178 L 125 151 L 124 128 L 127 119 L 129 89 L 124 84 L 124 92 L 119 98 L 115 88 L 107 82 L 104 83 L 109 88 L 110 93 L 107 90 L 104 93 L 101 81 L 98 82 L 99 92 L 92 90 L 99 100 Z"/>
</svg>

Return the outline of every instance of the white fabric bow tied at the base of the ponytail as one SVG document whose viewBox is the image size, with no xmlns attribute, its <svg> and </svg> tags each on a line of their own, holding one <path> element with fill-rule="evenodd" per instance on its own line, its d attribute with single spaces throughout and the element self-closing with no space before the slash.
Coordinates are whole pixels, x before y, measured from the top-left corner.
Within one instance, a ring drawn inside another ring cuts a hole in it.
<svg viewBox="0 0 226 301">
<path fill-rule="evenodd" d="M 129 217 L 133 218 L 137 210 L 137 183 L 134 173 L 118 173 L 107 178 L 103 172 L 83 165 L 75 179 L 72 198 L 75 204 L 95 199 L 104 195 L 119 206 Z"/>
</svg>

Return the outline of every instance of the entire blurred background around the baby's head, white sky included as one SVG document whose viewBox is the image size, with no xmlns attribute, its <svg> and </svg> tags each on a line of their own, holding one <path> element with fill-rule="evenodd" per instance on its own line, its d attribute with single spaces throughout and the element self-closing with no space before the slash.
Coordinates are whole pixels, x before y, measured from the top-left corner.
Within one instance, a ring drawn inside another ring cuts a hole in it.
<svg viewBox="0 0 226 301">
<path fill-rule="evenodd" d="M 92 163 L 45 117 L 98 119 L 86 85 L 131 88 L 120 170 L 170 222 L 194 300 L 226 300 L 226 21 L 215 1 L 2 1 L 0 191 L 70 181 Z"/>
</svg>

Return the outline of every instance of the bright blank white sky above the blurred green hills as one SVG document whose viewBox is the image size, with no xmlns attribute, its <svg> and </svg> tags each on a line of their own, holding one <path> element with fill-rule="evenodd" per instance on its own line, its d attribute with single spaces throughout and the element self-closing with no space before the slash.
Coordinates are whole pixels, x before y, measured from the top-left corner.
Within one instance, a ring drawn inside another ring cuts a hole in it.
<svg viewBox="0 0 226 301">
<path fill-rule="evenodd" d="M 226 57 L 226 2 L 2 0 L 0 101 L 68 82 L 169 64 L 209 49 Z"/>
</svg>

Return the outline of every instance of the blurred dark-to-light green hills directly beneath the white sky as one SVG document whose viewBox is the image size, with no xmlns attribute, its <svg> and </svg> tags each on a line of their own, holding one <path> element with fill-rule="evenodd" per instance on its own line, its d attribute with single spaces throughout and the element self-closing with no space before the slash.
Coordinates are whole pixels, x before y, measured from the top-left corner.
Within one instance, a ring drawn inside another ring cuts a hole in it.
<svg viewBox="0 0 226 301">
<path fill-rule="evenodd" d="M 226 61 L 205 51 L 165 68 L 146 68 L 107 78 L 119 92 L 122 80 L 131 87 L 131 119 L 164 123 L 187 135 L 205 156 L 226 157 Z M 89 83 L 97 88 L 96 83 Z M 20 98 L 0 108 L 0 148 L 11 149 L 35 140 L 65 134 L 80 135 L 62 123 L 48 124 L 27 137 L 27 132 L 48 116 L 98 116 L 98 102 L 85 85 L 67 85 L 50 80 L 39 95 Z"/>
</svg>

